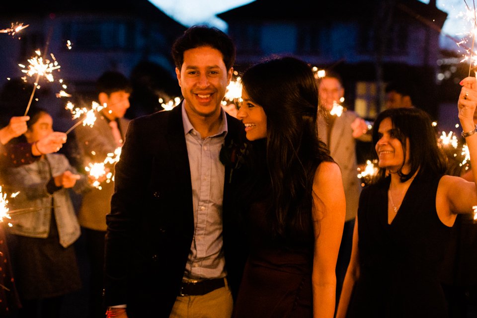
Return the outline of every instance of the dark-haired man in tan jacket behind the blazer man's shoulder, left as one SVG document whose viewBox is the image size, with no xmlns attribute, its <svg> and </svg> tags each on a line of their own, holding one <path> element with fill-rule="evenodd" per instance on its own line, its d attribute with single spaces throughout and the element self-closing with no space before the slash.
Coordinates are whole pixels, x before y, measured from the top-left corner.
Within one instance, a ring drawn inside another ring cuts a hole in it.
<svg viewBox="0 0 477 318">
<path fill-rule="evenodd" d="M 79 153 L 82 154 L 83 167 L 89 163 L 103 162 L 108 154 L 121 147 L 129 119 L 124 118 L 129 108 L 132 86 L 123 74 L 113 71 L 103 73 L 96 81 L 97 98 L 100 105 L 106 105 L 99 114 L 94 126 L 79 125 L 75 128 Z M 104 236 L 106 234 L 106 214 L 110 210 L 114 182 L 103 182 L 101 188 L 85 193 L 79 208 L 79 224 L 85 239 L 89 276 L 89 318 L 102 318 L 106 308 L 103 306 Z"/>
</svg>

